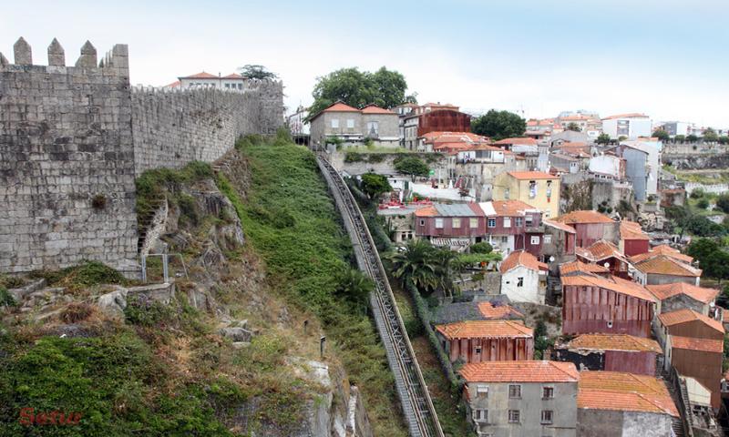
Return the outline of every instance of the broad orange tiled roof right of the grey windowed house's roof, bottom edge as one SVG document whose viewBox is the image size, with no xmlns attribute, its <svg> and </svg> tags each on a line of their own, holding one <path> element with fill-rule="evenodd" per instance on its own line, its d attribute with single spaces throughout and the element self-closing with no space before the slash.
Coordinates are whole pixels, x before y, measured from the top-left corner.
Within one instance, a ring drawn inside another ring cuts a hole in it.
<svg viewBox="0 0 729 437">
<path fill-rule="evenodd" d="M 620 371 L 581 371 L 579 389 L 578 408 L 656 412 L 679 417 L 665 383 L 652 376 Z"/>
</svg>

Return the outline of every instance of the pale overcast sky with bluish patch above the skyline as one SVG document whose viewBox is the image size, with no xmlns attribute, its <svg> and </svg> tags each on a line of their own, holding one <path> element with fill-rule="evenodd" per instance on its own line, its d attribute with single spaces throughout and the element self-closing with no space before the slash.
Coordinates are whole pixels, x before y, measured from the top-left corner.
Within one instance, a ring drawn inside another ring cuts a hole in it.
<svg viewBox="0 0 729 437">
<path fill-rule="evenodd" d="M 25 36 L 46 64 L 56 36 L 76 62 L 129 46 L 132 84 L 165 85 L 205 70 L 262 64 L 287 107 L 312 102 L 317 76 L 380 66 L 421 102 L 525 117 L 589 109 L 606 117 L 729 127 L 726 0 L 37 1 L 0 7 L 0 52 Z"/>
</svg>

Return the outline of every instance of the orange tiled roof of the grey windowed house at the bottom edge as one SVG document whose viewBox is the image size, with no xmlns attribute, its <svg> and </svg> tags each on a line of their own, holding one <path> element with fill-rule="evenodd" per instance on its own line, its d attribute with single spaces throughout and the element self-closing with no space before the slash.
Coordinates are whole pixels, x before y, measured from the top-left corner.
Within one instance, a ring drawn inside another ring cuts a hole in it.
<svg viewBox="0 0 729 437">
<path fill-rule="evenodd" d="M 571 362 L 482 361 L 464 364 L 460 375 L 467 382 L 577 382 L 580 372 Z"/>
</svg>

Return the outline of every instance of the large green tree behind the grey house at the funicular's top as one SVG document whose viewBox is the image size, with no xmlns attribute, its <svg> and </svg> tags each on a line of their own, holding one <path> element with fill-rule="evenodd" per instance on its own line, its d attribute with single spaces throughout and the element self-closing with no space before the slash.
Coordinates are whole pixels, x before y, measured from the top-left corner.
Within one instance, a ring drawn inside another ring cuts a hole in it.
<svg viewBox="0 0 729 437">
<path fill-rule="evenodd" d="M 316 79 L 309 114 L 316 115 L 338 100 L 351 107 L 374 103 L 385 108 L 415 102 L 416 96 L 408 96 L 406 91 L 405 76 L 384 66 L 375 73 L 360 71 L 356 67 L 342 68 Z"/>
</svg>

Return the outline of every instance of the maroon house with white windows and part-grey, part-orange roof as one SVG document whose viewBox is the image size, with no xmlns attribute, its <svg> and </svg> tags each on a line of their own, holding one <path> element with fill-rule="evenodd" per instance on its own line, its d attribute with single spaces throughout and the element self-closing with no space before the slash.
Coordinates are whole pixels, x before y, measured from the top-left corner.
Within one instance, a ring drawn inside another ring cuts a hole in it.
<svg viewBox="0 0 729 437">
<path fill-rule="evenodd" d="M 436 203 L 416 210 L 415 219 L 416 237 L 436 246 L 465 249 L 485 237 L 484 213 L 476 203 Z"/>
</svg>

